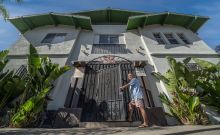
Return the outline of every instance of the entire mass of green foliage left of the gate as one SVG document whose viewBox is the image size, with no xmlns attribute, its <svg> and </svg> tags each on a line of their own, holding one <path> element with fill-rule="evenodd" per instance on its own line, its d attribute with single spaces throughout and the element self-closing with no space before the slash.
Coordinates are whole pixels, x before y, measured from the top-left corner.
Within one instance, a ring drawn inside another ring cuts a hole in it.
<svg viewBox="0 0 220 135">
<path fill-rule="evenodd" d="M 12 127 L 36 126 L 46 109 L 53 82 L 70 69 L 69 66 L 59 67 L 48 57 L 39 57 L 32 45 L 29 50 L 25 78 L 15 75 L 13 71 L 3 72 L 8 63 L 8 51 L 0 52 L 0 125 L 2 117 L 12 115 Z M 8 114 L 8 111 L 14 114 Z"/>
</svg>

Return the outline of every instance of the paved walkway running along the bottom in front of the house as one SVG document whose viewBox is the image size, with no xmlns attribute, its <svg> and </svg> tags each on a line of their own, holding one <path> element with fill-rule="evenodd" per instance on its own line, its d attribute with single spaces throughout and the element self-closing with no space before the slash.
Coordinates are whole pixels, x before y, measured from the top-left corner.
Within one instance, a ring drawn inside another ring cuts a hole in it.
<svg viewBox="0 0 220 135">
<path fill-rule="evenodd" d="M 220 125 L 213 126 L 169 126 L 149 127 L 139 129 L 135 127 L 115 128 L 69 128 L 69 129 L 0 129 L 0 135 L 220 135 Z"/>
</svg>

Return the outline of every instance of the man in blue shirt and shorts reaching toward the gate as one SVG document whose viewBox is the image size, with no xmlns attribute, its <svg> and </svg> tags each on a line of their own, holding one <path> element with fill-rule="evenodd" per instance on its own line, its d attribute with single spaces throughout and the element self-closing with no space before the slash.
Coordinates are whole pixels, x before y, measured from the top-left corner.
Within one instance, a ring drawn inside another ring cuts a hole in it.
<svg viewBox="0 0 220 135">
<path fill-rule="evenodd" d="M 140 88 L 140 82 L 138 79 L 134 77 L 132 73 L 128 74 L 128 80 L 130 81 L 128 84 L 120 87 L 120 90 L 125 90 L 125 88 L 129 87 L 130 95 L 131 95 L 131 101 L 129 103 L 129 110 L 128 110 L 128 121 L 132 121 L 132 113 L 134 107 L 137 107 L 141 115 L 143 117 L 144 123 L 141 124 L 139 127 L 147 127 L 147 115 L 144 109 L 144 102 L 143 102 L 143 93 Z"/>
</svg>

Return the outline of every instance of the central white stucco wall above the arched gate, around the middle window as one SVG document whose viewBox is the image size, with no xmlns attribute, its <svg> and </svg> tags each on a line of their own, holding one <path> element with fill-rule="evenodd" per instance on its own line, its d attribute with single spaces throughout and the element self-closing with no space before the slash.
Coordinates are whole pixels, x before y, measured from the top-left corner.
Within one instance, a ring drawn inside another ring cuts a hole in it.
<svg viewBox="0 0 220 135">
<path fill-rule="evenodd" d="M 100 34 L 118 34 L 121 36 L 121 39 L 126 44 L 126 48 L 130 51 L 129 54 L 115 54 L 116 56 L 121 56 L 129 60 L 146 60 L 146 51 L 142 50 L 142 54 L 138 53 L 136 49 L 140 46 L 144 48 L 144 45 L 141 42 L 140 35 L 137 30 L 126 31 L 126 25 L 94 25 L 92 31 L 81 31 L 79 39 L 77 40 L 76 45 L 80 46 L 80 54 L 77 60 L 79 61 L 89 61 L 94 58 L 103 55 L 109 54 L 91 54 L 92 45 L 97 41 L 96 36 Z M 87 50 L 86 50 L 87 48 Z M 86 50 L 89 54 L 88 56 L 81 52 L 81 50 Z M 114 55 L 114 54 L 112 54 Z"/>
</svg>

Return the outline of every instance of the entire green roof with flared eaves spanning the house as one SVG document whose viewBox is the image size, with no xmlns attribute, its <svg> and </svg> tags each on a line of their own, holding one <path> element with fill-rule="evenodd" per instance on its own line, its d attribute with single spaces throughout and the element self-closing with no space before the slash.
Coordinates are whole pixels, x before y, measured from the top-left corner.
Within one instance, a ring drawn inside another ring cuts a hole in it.
<svg viewBox="0 0 220 135">
<path fill-rule="evenodd" d="M 90 10 L 77 13 L 46 13 L 8 19 L 21 33 L 45 25 L 71 25 L 92 30 L 92 25 L 127 24 L 127 30 L 152 24 L 172 24 L 196 32 L 209 18 L 176 13 L 145 13 L 120 9 Z"/>
</svg>

